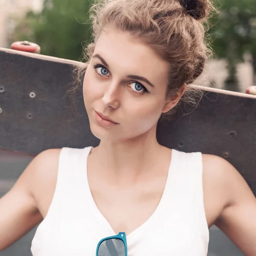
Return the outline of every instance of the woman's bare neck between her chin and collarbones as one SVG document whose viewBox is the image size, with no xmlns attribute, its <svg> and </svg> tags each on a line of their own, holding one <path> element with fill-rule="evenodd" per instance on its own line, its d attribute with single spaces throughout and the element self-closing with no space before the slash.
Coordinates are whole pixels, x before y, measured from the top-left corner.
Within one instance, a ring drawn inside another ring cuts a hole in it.
<svg viewBox="0 0 256 256">
<path fill-rule="evenodd" d="M 101 172 L 108 172 L 108 175 L 112 174 L 117 179 L 134 179 L 152 168 L 162 152 L 160 148 L 162 146 L 157 142 L 155 127 L 130 140 L 101 140 L 99 146 L 93 149 L 93 158 L 100 165 Z"/>
</svg>

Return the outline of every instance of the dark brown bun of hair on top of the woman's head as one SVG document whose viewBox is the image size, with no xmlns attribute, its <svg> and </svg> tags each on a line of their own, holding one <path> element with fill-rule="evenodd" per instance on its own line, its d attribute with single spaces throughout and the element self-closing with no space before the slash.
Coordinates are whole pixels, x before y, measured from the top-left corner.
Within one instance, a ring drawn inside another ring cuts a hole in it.
<svg viewBox="0 0 256 256">
<path fill-rule="evenodd" d="M 196 20 L 201 20 L 208 14 L 208 0 L 179 0 L 179 2 L 185 8 L 185 12 Z"/>
</svg>

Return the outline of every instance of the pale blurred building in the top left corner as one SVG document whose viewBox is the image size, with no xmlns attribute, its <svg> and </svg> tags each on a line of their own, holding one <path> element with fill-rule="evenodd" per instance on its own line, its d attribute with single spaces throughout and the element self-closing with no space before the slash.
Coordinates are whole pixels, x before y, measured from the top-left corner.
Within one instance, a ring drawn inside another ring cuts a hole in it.
<svg viewBox="0 0 256 256">
<path fill-rule="evenodd" d="M 7 47 L 8 34 L 15 29 L 19 18 L 32 10 L 40 12 L 43 0 L 0 0 L 0 47 Z"/>
</svg>

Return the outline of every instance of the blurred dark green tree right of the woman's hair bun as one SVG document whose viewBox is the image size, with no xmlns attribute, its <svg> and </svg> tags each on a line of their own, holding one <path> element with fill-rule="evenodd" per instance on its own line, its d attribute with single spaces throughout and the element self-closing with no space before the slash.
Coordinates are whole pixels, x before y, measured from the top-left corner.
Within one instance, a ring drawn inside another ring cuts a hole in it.
<svg viewBox="0 0 256 256">
<path fill-rule="evenodd" d="M 235 83 L 236 64 L 250 52 L 256 73 L 256 3 L 255 0 L 221 0 L 221 17 L 213 17 L 212 48 L 217 57 L 229 62 L 230 78 Z M 254 81 L 255 82 L 255 81 Z M 256 83 L 255 83 L 256 84 Z"/>
</svg>

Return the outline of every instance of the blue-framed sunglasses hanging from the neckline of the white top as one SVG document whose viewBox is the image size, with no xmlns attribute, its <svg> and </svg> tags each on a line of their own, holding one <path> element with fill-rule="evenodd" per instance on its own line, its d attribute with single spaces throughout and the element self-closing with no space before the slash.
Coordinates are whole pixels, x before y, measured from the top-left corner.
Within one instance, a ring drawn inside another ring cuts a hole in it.
<svg viewBox="0 0 256 256">
<path fill-rule="evenodd" d="M 125 233 L 109 236 L 99 241 L 96 256 L 127 256 Z"/>
</svg>

